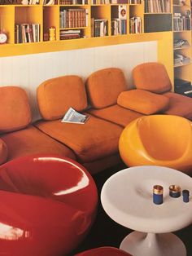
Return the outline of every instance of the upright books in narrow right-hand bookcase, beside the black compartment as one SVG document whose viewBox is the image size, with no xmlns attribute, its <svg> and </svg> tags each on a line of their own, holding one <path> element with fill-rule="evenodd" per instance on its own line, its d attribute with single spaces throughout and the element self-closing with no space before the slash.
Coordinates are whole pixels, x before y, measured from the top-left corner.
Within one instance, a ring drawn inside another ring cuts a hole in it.
<svg viewBox="0 0 192 256">
<path fill-rule="evenodd" d="M 190 30 L 190 15 L 181 15 L 181 13 L 174 13 L 173 30 L 174 31 Z"/>
</svg>

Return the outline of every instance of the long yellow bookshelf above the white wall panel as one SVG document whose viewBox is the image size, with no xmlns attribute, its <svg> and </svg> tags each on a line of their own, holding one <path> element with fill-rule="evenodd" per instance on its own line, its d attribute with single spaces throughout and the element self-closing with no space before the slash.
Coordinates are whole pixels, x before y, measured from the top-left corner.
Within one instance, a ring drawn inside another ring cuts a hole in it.
<svg viewBox="0 0 192 256">
<path fill-rule="evenodd" d="M 173 81 L 172 11 L 146 10 L 145 0 L 0 0 L 0 30 L 1 57 L 157 41 Z"/>
</svg>

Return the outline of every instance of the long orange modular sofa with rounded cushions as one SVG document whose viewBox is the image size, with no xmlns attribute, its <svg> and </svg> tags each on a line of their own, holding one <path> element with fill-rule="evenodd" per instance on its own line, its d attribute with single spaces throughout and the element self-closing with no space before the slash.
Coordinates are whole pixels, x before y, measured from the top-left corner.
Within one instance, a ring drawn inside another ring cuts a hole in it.
<svg viewBox="0 0 192 256">
<path fill-rule="evenodd" d="M 34 153 L 56 153 L 79 161 L 94 174 L 121 162 L 119 138 L 131 121 L 155 113 L 192 118 L 192 99 L 168 91 L 171 82 L 162 64 L 138 65 L 133 81 L 137 89 L 128 90 L 120 68 L 104 68 L 90 74 L 85 83 L 78 76 L 42 82 L 37 88 L 42 118 L 33 124 L 25 91 L 1 87 L 0 163 Z M 89 121 L 85 125 L 61 122 L 69 107 L 89 114 Z"/>
</svg>

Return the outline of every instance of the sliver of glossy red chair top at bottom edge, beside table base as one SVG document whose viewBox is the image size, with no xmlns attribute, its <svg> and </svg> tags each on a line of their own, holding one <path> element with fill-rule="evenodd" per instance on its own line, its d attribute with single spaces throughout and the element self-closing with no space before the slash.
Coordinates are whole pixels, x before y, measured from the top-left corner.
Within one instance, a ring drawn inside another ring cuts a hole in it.
<svg viewBox="0 0 192 256">
<path fill-rule="evenodd" d="M 80 254 L 76 254 L 76 256 L 132 256 L 132 255 L 124 252 L 122 249 L 106 246 L 106 247 L 89 249 Z"/>
</svg>

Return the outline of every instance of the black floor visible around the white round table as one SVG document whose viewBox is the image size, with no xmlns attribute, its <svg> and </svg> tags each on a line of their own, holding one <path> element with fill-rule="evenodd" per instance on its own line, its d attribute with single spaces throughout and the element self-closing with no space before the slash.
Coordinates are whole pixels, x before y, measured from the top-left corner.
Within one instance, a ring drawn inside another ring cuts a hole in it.
<svg viewBox="0 0 192 256">
<path fill-rule="evenodd" d="M 116 173 L 116 171 L 122 170 L 124 168 L 126 167 L 122 164 L 120 166 L 116 166 L 116 168 L 113 168 L 112 170 L 106 170 L 94 176 L 94 180 L 98 188 L 98 195 L 100 194 L 101 188 L 103 187 L 103 183 L 105 183 L 105 181 L 111 176 L 111 174 L 114 174 Z M 73 256 L 74 254 L 77 254 L 86 249 L 91 249 L 99 246 L 119 247 L 120 242 L 123 240 L 124 236 L 127 236 L 130 232 L 132 232 L 132 230 L 129 230 L 126 227 L 122 227 L 119 224 L 115 223 L 113 220 L 111 220 L 111 218 L 109 218 L 104 212 L 103 207 L 99 201 L 97 218 L 88 236 L 86 236 L 85 241 L 83 241 L 81 245 L 68 256 Z M 185 227 L 184 229 L 174 233 L 179 236 L 184 242 L 187 249 L 187 256 L 191 256 L 192 224 L 189 227 Z"/>
</svg>

